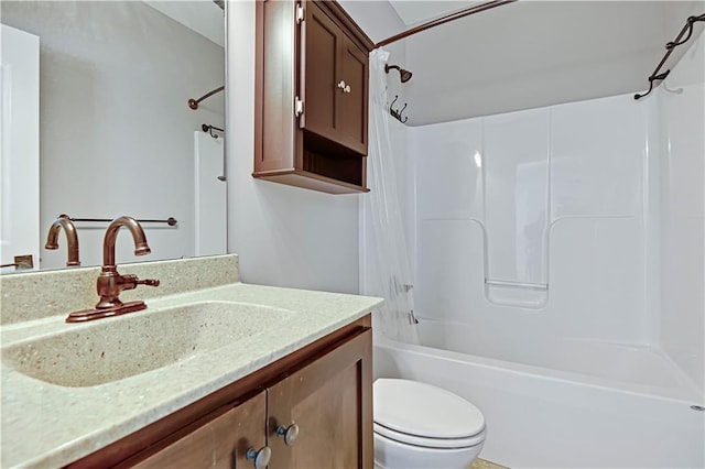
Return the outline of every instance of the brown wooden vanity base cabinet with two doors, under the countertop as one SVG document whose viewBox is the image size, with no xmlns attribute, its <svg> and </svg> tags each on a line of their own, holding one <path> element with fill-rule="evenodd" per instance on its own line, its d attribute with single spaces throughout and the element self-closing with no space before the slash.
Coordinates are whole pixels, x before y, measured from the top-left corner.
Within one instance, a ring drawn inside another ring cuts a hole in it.
<svg viewBox="0 0 705 469">
<path fill-rule="evenodd" d="M 264 447 L 270 469 L 372 468 L 369 315 L 69 467 L 254 468 Z"/>
</svg>

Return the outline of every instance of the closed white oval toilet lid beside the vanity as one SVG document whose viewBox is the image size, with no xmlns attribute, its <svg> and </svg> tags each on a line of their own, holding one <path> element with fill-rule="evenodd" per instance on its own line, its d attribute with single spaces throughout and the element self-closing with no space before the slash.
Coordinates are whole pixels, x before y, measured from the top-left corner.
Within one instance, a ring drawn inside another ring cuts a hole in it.
<svg viewBox="0 0 705 469">
<path fill-rule="evenodd" d="M 379 378 L 373 384 L 375 422 L 397 432 L 433 438 L 466 438 L 485 429 L 482 413 L 444 389 Z"/>
</svg>

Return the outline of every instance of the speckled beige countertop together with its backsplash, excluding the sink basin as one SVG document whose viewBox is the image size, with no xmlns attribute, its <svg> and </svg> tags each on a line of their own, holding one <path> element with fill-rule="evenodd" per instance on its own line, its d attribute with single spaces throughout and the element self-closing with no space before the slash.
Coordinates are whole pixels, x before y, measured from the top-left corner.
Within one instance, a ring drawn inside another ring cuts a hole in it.
<svg viewBox="0 0 705 469">
<path fill-rule="evenodd" d="M 196 302 L 256 304 L 286 309 L 290 314 L 268 330 L 217 351 L 100 385 L 50 384 L 3 363 L 2 467 L 65 466 L 356 321 L 382 302 L 356 295 L 242 284 L 234 255 L 124 265 L 121 270 L 158 277 L 166 287 L 129 292 L 135 299 L 145 299 L 148 309 L 94 324 L 129 320 L 133 315 L 154 314 Z M 95 303 L 94 283 L 98 271 L 96 268 L 3 277 L 2 316 L 8 325 L 1 329 L 2 346 L 90 327 L 91 323 L 66 324 L 64 319 L 69 310 L 86 307 L 85 302 Z M 84 295 L 84 303 L 78 305 L 70 296 L 83 295 L 83 288 L 89 294 Z M 155 297 L 160 291 L 163 294 Z M 20 294 L 24 303 L 15 298 Z M 64 299 L 70 304 L 68 307 Z M 34 314 L 25 314 L 28 309 L 34 309 L 31 312 Z M 161 332 L 170 336 L 178 331 Z M 144 353 L 149 352 L 150 345 L 145 343 Z"/>
</svg>

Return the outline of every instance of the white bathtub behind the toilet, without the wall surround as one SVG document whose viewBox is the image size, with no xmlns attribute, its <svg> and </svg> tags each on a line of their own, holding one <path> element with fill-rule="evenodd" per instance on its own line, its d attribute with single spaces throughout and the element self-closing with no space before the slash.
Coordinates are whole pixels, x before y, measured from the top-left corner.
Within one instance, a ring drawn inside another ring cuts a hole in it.
<svg viewBox="0 0 705 469">
<path fill-rule="evenodd" d="M 512 468 L 705 467 L 705 412 L 691 408 L 704 405 L 702 393 L 658 350 L 490 341 L 427 320 L 419 331 L 423 346 L 377 337 L 375 373 L 434 383 L 477 405 L 488 425 L 481 458 Z"/>
</svg>

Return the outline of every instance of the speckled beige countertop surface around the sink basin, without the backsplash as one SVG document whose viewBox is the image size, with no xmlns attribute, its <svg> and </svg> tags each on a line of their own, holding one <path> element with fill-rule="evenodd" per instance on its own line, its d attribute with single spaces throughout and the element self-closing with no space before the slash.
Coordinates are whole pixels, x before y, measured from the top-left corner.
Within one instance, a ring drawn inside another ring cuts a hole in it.
<svg viewBox="0 0 705 469">
<path fill-rule="evenodd" d="M 50 384 L 15 371 L 3 360 L 1 466 L 62 467 L 365 316 L 382 302 L 357 295 L 231 283 L 145 299 L 147 310 L 93 324 L 129 320 L 133 315 L 214 301 L 264 305 L 291 313 L 267 330 L 217 351 L 93 386 Z M 2 347 L 91 327 L 91 323 L 66 324 L 64 318 L 62 314 L 4 325 L 0 328 Z M 149 352 L 147 342 L 144 353 Z"/>
</svg>

